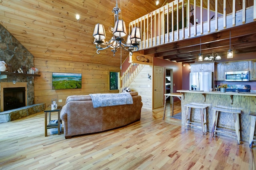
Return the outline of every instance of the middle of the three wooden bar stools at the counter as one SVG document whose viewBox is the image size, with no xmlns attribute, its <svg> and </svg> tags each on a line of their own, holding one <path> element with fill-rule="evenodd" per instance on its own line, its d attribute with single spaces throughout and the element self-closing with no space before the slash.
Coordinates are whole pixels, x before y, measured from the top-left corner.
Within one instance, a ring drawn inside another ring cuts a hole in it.
<svg viewBox="0 0 256 170">
<path fill-rule="evenodd" d="M 221 108 L 221 107 L 212 107 L 212 110 L 213 110 L 212 137 L 214 136 L 214 134 L 216 134 L 216 132 L 226 133 L 228 135 L 232 135 L 232 136 L 236 137 L 237 138 L 237 143 L 240 144 L 240 121 L 239 121 L 239 114 L 242 111 L 239 110 L 239 109 L 226 109 L 226 108 Z M 235 131 L 232 131 L 230 129 L 225 129 L 225 128 L 217 127 L 219 112 L 233 113 L 234 124 L 235 124 Z M 224 131 L 218 131 L 218 130 L 228 131 L 229 133 L 224 132 Z"/>
</svg>

